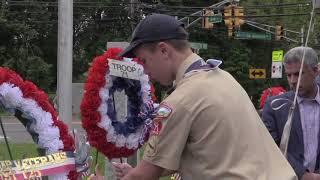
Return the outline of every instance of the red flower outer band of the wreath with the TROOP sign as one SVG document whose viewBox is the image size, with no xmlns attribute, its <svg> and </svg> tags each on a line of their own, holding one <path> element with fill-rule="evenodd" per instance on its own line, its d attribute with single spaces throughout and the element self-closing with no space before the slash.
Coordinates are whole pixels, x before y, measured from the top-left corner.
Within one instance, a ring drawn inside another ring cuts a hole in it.
<svg viewBox="0 0 320 180">
<path fill-rule="evenodd" d="M 106 139 L 107 132 L 97 125 L 101 121 L 101 116 L 98 112 L 98 108 L 102 103 L 99 91 L 107 83 L 105 76 L 109 73 L 108 60 L 123 60 L 122 57 L 118 57 L 121 51 L 122 49 L 120 48 L 110 48 L 103 55 L 94 58 L 92 66 L 89 69 L 85 92 L 81 102 L 82 126 L 87 131 L 90 145 L 97 148 L 110 159 L 127 157 L 135 152 L 135 150 L 125 147 L 118 148 L 114 143 L 108 142 Z"/>
</svg>

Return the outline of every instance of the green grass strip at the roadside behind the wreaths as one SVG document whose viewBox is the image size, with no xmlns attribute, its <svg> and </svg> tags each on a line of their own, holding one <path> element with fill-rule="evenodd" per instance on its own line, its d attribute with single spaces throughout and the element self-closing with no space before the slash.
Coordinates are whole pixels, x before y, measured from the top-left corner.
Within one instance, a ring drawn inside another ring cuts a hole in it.
<svg viewBox="0 0 320 180">
<path fill-rule="evenodd" d="M 13 159 L 24 159 L 40 156 L 37 151 L 37 146 L 31 143 L 21 143 L 21 144 L 10 144 L 10 149 L 12 153 Z M 140 151 L 140 156 L 142 156 L 143 152 Z M 91 156 L 93 158 L 93 163 L 96 162 L 96 150 L 95 148 L 91 149 Z M 6 144 L 0 142 L 0 161 L 10 160 L 10 156 L 6 147 Z M 98 164 L 101 172 L 104 172 L 104 156 L 99 153 L 98 155 Z M 93 172 L 94 166 L 91 167 L 91 172 Z M 170 180 L 170 177 L 163 177 L 161 180 Z"/>
</svg>

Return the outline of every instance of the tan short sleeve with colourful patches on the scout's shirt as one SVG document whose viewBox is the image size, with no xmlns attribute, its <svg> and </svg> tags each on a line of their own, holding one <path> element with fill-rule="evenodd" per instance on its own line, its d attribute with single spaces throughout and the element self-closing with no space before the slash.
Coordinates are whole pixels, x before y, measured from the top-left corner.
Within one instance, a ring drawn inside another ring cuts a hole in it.
<svg viewBox="0 0 320 180">
<path fill-rule="evenodd" d="M 178 170 L 190 132 L 190 118 L 181 104 L 161 103 L 143 160 L 167 170 Z"/>
</svg>

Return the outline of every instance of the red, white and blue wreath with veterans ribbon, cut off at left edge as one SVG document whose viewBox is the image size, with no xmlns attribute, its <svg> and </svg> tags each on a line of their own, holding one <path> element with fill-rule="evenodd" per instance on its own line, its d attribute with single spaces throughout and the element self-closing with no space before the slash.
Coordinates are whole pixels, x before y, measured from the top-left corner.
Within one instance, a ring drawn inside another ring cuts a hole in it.
<svg viewBox="0 0 320 180">
<path fill-rule="evenodd" d="M 58 118 L 48 95 L 30 81 L 24 81 L 14 71 L 0 67 L 0 107 L 15 113 L 39 148 L 46 154 L 74 151 L 73 137 Z M 74 164 L 65 167 L 74 169 Z M 75 171 L 59 174 L 54 179 L 77 179 Z"/>
</svg>

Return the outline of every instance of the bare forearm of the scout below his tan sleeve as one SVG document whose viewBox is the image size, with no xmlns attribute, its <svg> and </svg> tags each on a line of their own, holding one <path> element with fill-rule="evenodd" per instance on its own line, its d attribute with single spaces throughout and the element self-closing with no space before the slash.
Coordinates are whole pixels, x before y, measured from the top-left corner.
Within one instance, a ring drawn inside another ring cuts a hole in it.
<svg viewBox="0 0 320 180">
<path fill-rule="evenodd" d="M 164 172 L 163 168 L 142 160 L 121 180 L 159 180 Z"/>
</svg>

